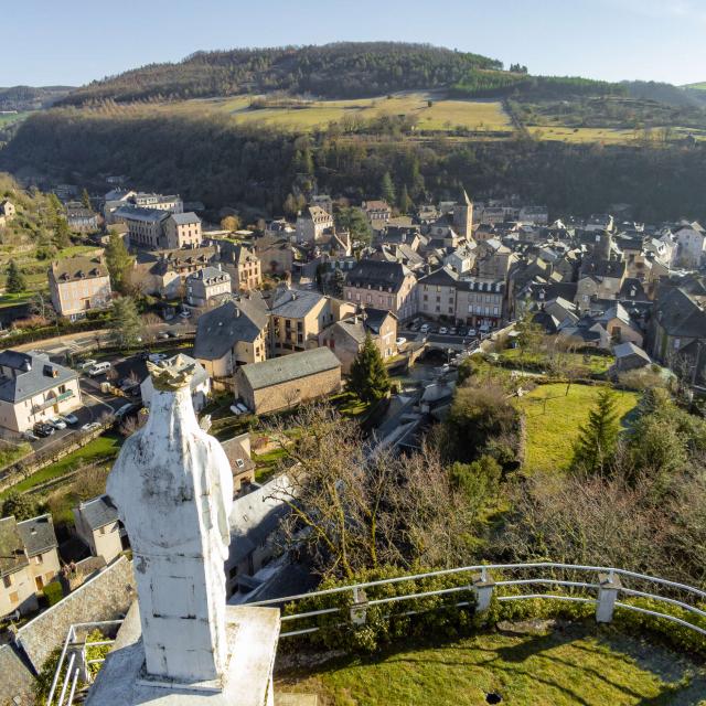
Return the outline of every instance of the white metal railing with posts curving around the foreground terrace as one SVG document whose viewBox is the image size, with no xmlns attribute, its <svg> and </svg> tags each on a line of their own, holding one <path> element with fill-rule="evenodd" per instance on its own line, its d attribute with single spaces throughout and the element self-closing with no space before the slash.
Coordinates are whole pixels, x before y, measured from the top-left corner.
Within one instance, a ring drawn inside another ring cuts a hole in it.
<svg viewBox="0 0 706 706">
<path fill-rule="evenodd" d="M 498 580 L 493 580 L 492 573 L 500 574 Z M 520 577 L 520 578 L 505 578 L 505 576 L 513 574 L 534 573 L 534 576 Z M 556 573 L 557 576 L 550 576 L 552 573 Z M 574 578 L 559 578 L 558 576 L 567 576 L 571 573 L 577 575 L 576 580 Z M 538 574 L 538 575 L 537 575 Z M 367 600 L 365 598 L 365 591 L 373 589 L 377 586 L 388 586 L 397 584 L 409 584 L 413 581 L 420 581 L 424 579 L 442 577 L 442 576 L 468 576 L 468 581 L 462 582 L 460 586 L 453 586 L 439 590 L 429 591 L 413 591 L 410 593 L 402 593 L 398 596 L 388 596 L 385 598 Z M 584 576 L 582 580 L 578 580 L 579 576 Z M 630 585 L 623 585 L 625 584 Z M 522 586 L 544 586 L 544 587 L 560 587 L 568 589 L 568 592 L 507 592 L 509 587 L 522 587 Z M 648 590 L 652 588 L 652 590 Z M 246 603 L 249 607 L 258 606 L 271 606 L 284 607 L 286 605 L 298 603 L 312 598 L 319 598 L 322 596 L 336 596 L 336 595 L 350 595 L 350 600 L 345 601 L 344 606 L 321 608 L 319 610 L 302 611 L 293 614 L 287 614 L 281 617 L 281 622 L 287 624 L 297 623 L 297 621 L 306 620 L 309 618 L 317 618 L 319 616 L 329 616 L 334 613 L 341 614 L 341 625 L 350 624 L 364 624 L 366 610 L 370 606 L 384 606 L 388 603 L 415 601 L 434 596 L 452 596 L 458 592 L 473 591 L 477 597 L 475 610 L 479 613 L 488 610 L 490 607 L 491 597 L 503 601 L 522 601 L 531 599 L 549 599 L 560 600 L 568 602 L 589 603 L 596 606 L 596 618 L 598 622 L 610 622 L 613 618 L 613 611 L 616 609 L 633 611 L 668 620 L 685 628 L 688 628 L 706 637 L 706 627 L 696 624 L 696 622 L 689 622 L 677 616 L 673 616 L 659 610 L 651 610 L 643 608 L 634 603 L 625 602 L 624 600 L 618 600 L 619 597 L 624 596 L 630 598 L 643 598 L 653 600 L 665 606 L 674 606 L 687 613 L 706 619 L 706 591 L 703 591 L 693 586 L 686 584 L 680 584 L 677 581 L 670 581 L 664 578 L 648 576 L 645 574 L 639 574 L 637 571 L 629 571 L 627 569 L 619 569 L 614 567 L 606 566 L 584 566 L 575 564 L 560 564 L 556 561 L 536 561 L 530 564 L 485 564 L 475 566 L 464 566 L 453 569 L 441 569 L 438 571 L 428 571 L 425 574 L 415 574 L 410 576 L 402 576 L 396 578 L 383 579 L 379 581 L 367 581 L 363 584 L 354 584 L 350 586 L 341 586 L 336 588 L 330 588 L 321 591 L 314 591 L 310 593 L 298 593 L 295 596 L 286 596 L 284 598 L 275 598 L 269 600 L 254 601 Z M 662 592 L 656 592 L 662 591 Z M 691 601 L 691 602 L 688 602 Z M 466 607 L 469 606 L 469 601 L 458 601 L 452 605 L 446 605 L 443 608 L 449 607 Z M 438 609 L 441 609 L 439 607 Z M 408 610 L 404 616 L 413 616 L 420 611 Z M 346 623 L 347 621 L 347 623 Z M 74 703 L 74 695 L 76 687 L 79 683 L 79 677 L 83 675 L 86 678 L 83 681 L 89 682 L 88 664 L 100 663 L 104 660 L 86 660 L 86 642 L 77 640 L 77 629 L 90 631 L 95 628 L 105 628 L 107 625 L 120 625 L 121 620 L 111 620 L 104 622 L 90 622 L 90 623 L 76 623 L 71 625 L 64 646 L 60 656 L 58 664 L 56 666 L 56 673 L 54 674 L 54 681 L 52 688 L 46 700 L 46 706 L 72 706 Z M 706 622 L 703 623 L 706 625 Z M 299 628 L 293 625 L 293 630 L 280 633 L 280 638 L 291 638 L 296 635 L 310 634 L 318 632 L 322 628 L 319 625 Z M 113 640 L 105 640 L 94 643 L 88 643 L 88 646 L 99 644 L 113 644 Z M 66 676 L 61 684 L 61 673 L 64 668 L 64 663 L 68 660 L 66 667 Z M 78 660 L 78 662 L 76 662 Z M 58 700 L 54 700 L 54 697 L 58 692 Z M 68 697 L 68 698 L 66 698 Z"/>
</svg>

